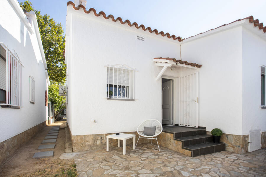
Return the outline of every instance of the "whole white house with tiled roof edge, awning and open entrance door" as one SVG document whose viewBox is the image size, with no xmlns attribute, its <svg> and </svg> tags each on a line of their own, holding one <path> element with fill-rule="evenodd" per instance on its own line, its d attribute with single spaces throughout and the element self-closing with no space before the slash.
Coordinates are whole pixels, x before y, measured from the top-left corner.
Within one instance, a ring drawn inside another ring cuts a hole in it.
<svg viewBox="0 0 266 177">
<path fill-rule="evenodd" d="M 146 119 L 206 127 L 207 134 L 220 128 L 232 152 L 254 150 L 249 141 L 266 147 L 262 23 L 250 16 L 181 39 L 85 6 L 67 3 L 73 150 L 103 148 L 105 134 L 136 132 Z"/>
</svg>

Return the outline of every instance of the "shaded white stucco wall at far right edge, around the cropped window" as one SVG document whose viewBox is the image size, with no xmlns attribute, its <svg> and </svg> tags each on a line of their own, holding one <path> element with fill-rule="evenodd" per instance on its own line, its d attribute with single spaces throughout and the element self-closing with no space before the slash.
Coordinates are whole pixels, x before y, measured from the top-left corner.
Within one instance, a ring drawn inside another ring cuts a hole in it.
<svg viewBox="0 0 266 177">
<path fill-rule="evenodd" d="M 266 131 L 266 109 L 259 107 L 260 65 L 266 65 L 265 46 L 265 39 L 243 27 L 243 135 L 253 130 Z"/>
</svg>

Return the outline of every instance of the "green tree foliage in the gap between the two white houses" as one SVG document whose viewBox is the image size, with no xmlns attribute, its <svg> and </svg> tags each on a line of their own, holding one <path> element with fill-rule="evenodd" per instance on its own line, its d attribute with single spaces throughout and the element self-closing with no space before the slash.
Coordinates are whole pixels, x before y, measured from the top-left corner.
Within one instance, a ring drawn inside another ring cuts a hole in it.
<svg viewBox="0 0 266 177">
<path fill-rule="evenodd" d="M 64 85 L 66 81 L 67 68 L 63 56 L 65 49 L 64 30 L 61 23 L 57 23 L 49 15 L 41 15 L 40 11 L 35 10 L 30 1 L 20 3 L 20 6 L 27 12 L 34 11 L 36 14 L 51 83 L 48 90 L 49 101 L 54 107 L 54 120 L 56 120 L 66 107 L 65 97 L 59 96 L 59 85 Z"/>
</svg>

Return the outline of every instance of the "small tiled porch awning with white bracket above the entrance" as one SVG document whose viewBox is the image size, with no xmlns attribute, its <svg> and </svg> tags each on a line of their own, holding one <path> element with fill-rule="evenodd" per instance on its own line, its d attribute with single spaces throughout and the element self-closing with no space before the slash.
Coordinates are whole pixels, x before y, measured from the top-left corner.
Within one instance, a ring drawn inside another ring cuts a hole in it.
<svg viewBox="0 0 266 177">
<path fill-rule="evenodd" d="M 171 67 L 172 65 L 182 67 L 182 68 L 191 68 L 191 69 L 197 69 L 201 68 L 202 65 L 199 65 L 197 63 L 189 63 L 187 61 L 182 61 L 182 60 L 176 60 L 175 58 L 153 58 L 153 61 L 157 66 L 163 66 L 162 70 L 156 77 L 156 81 L 160 79 L 160 77 L 163 75 L 164 71 L 167 69 L 167 67 Z"/>
</svg>

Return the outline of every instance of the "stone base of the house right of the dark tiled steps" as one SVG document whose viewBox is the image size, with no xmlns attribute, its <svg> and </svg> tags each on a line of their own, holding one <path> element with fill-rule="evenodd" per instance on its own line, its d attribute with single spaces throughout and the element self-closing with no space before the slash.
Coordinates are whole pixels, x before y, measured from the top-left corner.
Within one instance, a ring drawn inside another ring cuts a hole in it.
<svg viewBox="0 0 266 177">
<path fill-rule="evenodd" d="M 211 135 L 211 132 L 207 132 Z M 231 135 L 223 133 L 221 142 L 226 143 L 226 150 L 232 153 L 244 154 L 248 152 L 249 135 Z M 262 148 L 266 148 L 266 132 L 261 135 Z"/>
</svg>

